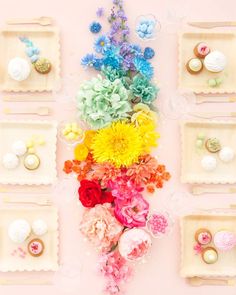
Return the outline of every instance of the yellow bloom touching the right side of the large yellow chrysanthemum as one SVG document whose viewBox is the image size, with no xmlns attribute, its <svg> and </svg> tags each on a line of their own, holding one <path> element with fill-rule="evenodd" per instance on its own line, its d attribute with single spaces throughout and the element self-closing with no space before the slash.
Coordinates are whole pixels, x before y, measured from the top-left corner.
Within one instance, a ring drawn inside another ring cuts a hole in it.
<svg viewBox="0 0 236 295">
<path fill-rule="evenodd" d="M 142 138 L 143 153 L 149 153 L 151 147 L 157 146 L 157 139 L 160 137 L 155 130 L 155 125 L 147 124 L 137 127 L 137 130 Z"/>
</svg>

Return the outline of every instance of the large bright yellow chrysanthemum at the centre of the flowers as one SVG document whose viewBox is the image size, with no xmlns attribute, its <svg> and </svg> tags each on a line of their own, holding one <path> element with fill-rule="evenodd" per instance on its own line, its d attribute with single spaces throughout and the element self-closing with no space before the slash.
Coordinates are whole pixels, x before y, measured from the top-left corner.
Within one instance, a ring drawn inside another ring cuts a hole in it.
<svg viewBox="0 0 236 295">
<path fill-rule="evenodd" d="M 111 162 L 116 167 L 130 166 L 142 153 L 142 138 L 133 124 L 116 122 L 101 129 L 94 137 L 92 152 L 99 162 Z"/>
</svg>

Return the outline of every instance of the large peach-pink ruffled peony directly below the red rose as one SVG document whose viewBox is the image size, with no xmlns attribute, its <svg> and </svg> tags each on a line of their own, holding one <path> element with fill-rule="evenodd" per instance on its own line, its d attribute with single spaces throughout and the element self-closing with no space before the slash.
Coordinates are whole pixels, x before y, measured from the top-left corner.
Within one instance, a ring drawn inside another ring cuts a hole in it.
<svg viewBox="0 0 236 295">
<path fill-rule="evenodd" d="M 84 212 L 80 230 L 98 250 L 109 251 L 123 231 L 110 204 L 96 205 Z"/>
</svg>

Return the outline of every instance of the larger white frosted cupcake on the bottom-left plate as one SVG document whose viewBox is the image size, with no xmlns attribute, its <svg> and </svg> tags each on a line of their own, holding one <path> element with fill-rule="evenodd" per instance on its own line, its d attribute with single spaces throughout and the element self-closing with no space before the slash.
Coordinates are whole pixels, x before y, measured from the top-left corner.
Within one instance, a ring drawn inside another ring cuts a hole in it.
<svg viewBox="0 0 236 295">
<path fill-rule="evenodd" d="M 25 219 L 16 219 L 8 227 L 8 236 L 14 243 L 23 243 L 30 232 L 31 227 Z"/>
</svg>

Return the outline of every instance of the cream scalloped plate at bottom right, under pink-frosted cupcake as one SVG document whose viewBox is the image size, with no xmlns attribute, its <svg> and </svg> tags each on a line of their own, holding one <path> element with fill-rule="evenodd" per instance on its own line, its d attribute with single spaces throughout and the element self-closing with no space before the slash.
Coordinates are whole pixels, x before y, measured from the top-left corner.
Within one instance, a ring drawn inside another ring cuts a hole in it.
<svg viewBox="0 0 236 295">
<path fill-rule="evenodd" d="M 181 219 L 181 269 L 182 277 L 234 277 L 236 276 L 236 248 L 227 252 L 218 252 L 218 260 L 214 264 L 206 264 L 201 255 L 194 252 L 195 232 L 199 228 L 207 228 L 214 235 L 226 229 L 236 231 L 236 215 L 234 213 L 193 214 Z M 213 243 L 210 245 L 213 246 Z"/>
</svg>

